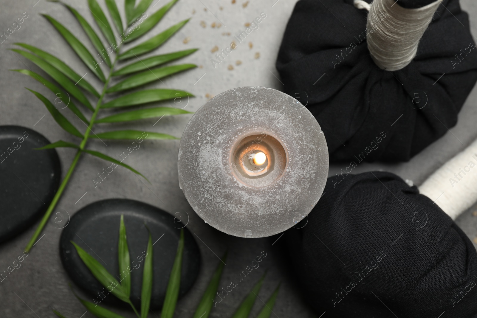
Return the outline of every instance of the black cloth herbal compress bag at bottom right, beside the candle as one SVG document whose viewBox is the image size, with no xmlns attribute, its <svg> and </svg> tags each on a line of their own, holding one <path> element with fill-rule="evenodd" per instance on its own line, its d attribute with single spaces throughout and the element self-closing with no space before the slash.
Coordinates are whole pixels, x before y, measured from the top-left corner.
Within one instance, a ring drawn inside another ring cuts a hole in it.
<svg viewBox="0 0 477 318">
<path fill-rule="evenodd" d="M 336 178 L 281 243 L 317 316 L 477 317 L 476 250 L 437 204 L 395 174 Z"/>
</svg>

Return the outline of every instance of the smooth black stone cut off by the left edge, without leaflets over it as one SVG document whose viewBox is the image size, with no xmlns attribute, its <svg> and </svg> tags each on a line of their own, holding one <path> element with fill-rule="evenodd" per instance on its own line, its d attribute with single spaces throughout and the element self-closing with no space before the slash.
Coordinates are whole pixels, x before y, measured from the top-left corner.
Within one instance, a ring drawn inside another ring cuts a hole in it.
<svg viewBox="0 0 477 318">
<path fill-rule="evenodd" d="M 48 208 L 61 177 L 54 149 L 40 133 L 21 126 L 0 126 L 0 242 L 31 226 Z"/>
</svg>

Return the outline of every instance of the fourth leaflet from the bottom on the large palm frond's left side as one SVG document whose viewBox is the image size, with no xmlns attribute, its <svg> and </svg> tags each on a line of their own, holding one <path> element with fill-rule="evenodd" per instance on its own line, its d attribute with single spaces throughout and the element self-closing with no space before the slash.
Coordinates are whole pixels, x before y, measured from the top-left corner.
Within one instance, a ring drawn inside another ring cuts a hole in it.
<svg viewBox="0 0 477 318">
<path fill-rule="evenodd" d="M 73 83 L 70 81 L 68 77 L 66 77 L 62 72 L 58 71 L 52 64 L 40 59 L 38 56 L 31 54 L 27 51 L 21 51 L 17 49 L 11 49 L 11 51 L 17 52 L 31 62 L 35 63 L 39 68 L 45 71 L 48 75 L 50 75 L 53 80 L 55 80 L 58 84 L 60 84 L 66 92 L 69 92 L 76 98 L 80 103 L 84 106 L 88 107 L 91 111 L 94 111 L 93 106 L 88 101 L 86 96 L 84 96 L 83 92 Z"/>
</svg>

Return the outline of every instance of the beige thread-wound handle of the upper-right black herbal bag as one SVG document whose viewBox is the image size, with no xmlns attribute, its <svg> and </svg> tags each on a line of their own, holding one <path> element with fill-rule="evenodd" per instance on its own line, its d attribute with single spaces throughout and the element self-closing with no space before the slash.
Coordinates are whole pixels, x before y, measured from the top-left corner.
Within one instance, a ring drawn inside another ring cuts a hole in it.
<svg viewBox="0 0 477 318">
<path fill-rule="evenodd" d="M 355 0 L 354 6 L 365 8 L 362 2 Z M 403 8 L 396 2 L 374 0 L 366 24 L 371 58 L 387 71 L 400 70 L 414 59 L 417 45 L 442 0 L 417 9 Z"/>
</svg>

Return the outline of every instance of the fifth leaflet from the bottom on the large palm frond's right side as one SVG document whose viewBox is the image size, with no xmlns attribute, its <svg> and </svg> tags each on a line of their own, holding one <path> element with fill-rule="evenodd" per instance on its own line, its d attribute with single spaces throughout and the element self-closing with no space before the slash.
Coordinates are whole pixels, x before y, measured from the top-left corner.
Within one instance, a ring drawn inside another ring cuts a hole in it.
<svg viewBox="0 0 477 318">
<path fill-rule="evenodd" d="M 131 88 L 135 88 L 146 83 L 158 81 L 163 77 L 166 77 L 178 72 L 186 71 L 195 67 L 197 67 L 197 65 L 195 64 L 179 64 L 179 65 L 165 66 L 165 67 L 160 67 L 157 69 L 144 71 L 144 72 L 135 74 L 131 77 L 128 77 L 124 81 L 117 83 L 113 87 L 108 88 L 106 92 L 110 93 L 110 92 L 120 92 L 124 90 L 129 90 Z"/>
</svg>

